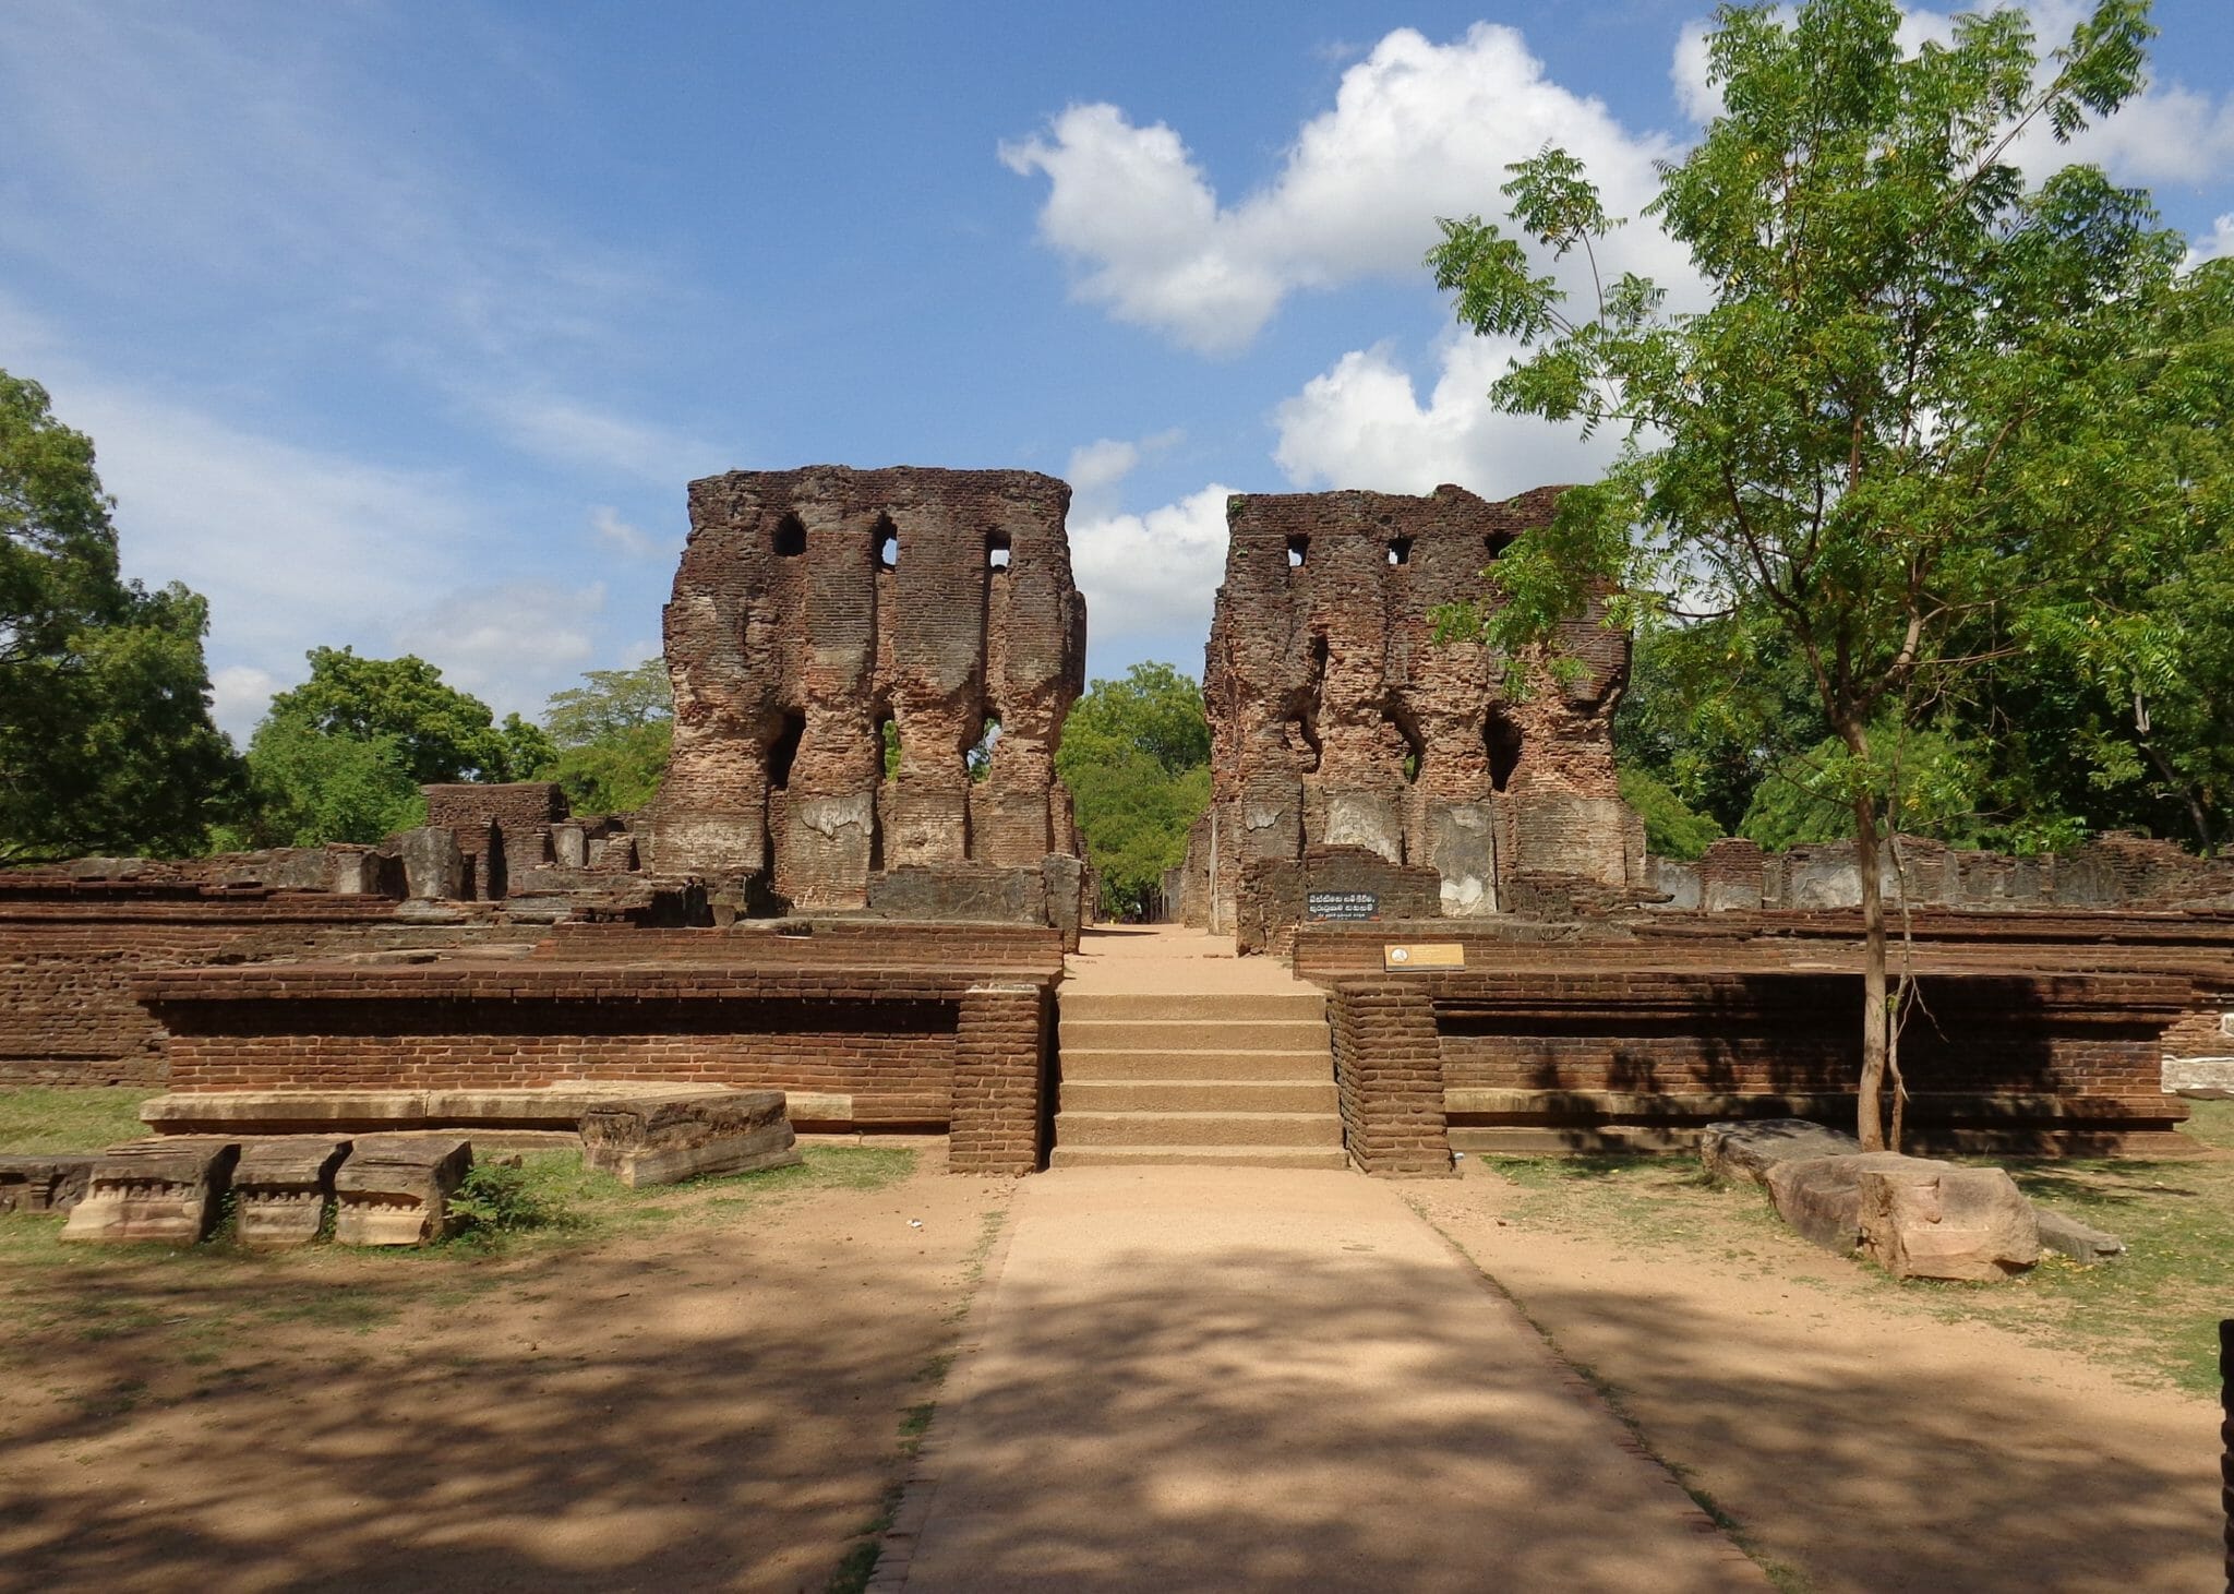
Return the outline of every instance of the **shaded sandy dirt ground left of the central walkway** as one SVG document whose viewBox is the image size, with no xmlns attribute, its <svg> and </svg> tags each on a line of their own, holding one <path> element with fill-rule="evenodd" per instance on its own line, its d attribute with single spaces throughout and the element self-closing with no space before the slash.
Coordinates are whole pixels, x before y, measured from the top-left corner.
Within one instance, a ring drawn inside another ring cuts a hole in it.
<svg viewBox="0 0 2234 1594">
<path fill-rule="evenodd" d="M 1014 1192 L 936 1163 L 518 1259 L 0 1277 L 38 1294 L 0 1373 L 0 1587 L 820 1594 Z M 259 1312 L 366 1268 L 411 1299 L 364 1332 L 315 1292 Z M 139 1306 L 89 1335 L 83 1290 Z M 217 1332 L 179 1355 L 183 1317 Z"/>
</svg>

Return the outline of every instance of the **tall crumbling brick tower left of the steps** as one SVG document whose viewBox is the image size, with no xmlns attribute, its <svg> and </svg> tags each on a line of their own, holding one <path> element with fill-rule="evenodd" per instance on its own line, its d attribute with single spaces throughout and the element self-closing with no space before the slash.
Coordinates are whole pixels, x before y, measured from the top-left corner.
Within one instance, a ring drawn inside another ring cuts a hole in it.
<svg viewBox="0 0 2234 1594">
<path fill-rule="evenodd" d="M 690 483 L 650 867 L 831 910 L 865 908 L 887 870 L 1077 854 L 1054 780 L 1086 684 L 1068 505 L 1063 483 L 1012 469 L 815 465 Z M 1001 736 L 972 780 L 992 722 Z"/>
</svg>

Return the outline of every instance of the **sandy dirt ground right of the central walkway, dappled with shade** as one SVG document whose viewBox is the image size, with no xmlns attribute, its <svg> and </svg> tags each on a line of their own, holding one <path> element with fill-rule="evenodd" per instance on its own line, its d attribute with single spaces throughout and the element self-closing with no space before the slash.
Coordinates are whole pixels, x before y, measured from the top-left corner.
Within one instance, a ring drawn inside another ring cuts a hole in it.
<svg viewBox="0 0 2234 1594">
<path fill-rule="evenodd" d="M 1479 1165 L 1405 1194 L 1812 1590 L 2225 1587 L 2212 1402 L 1888 1310 L 1789 1234 L 1747 1263 L 1546 1234 Z"/>
</svg>

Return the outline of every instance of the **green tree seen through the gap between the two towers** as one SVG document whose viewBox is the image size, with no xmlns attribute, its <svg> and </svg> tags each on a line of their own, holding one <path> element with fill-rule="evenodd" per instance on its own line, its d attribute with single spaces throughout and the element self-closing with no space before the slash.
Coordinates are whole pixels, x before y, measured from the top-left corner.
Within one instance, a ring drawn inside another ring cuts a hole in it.
<svg viewBox="0 0 2234 1594">
<path fill-rule="evenodd" d="M 1054 771 L 1070 787 L 1101 910 L 1142 912 L 1186 832 L 1211 805 L 1211 727 L 1202 689 L 1168 664 L 1097 680 L 1070 709 Z"/>
</svg>

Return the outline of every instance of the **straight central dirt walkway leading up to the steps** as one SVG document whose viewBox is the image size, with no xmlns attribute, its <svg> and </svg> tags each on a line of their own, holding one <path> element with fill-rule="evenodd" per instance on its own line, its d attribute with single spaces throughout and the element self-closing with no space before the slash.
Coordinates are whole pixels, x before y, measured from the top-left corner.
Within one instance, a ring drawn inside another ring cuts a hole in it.
<svg viewBox="0 0 2234 1594">
<path fill-rule="evenodd" d="M 1356 1174 L 1043 1174 L 974 1330 L 885 1587 L 1767 1587 Z"/>
</svg>

